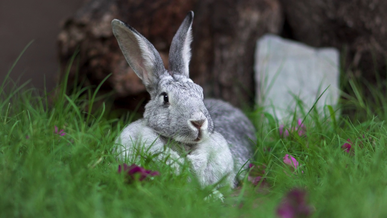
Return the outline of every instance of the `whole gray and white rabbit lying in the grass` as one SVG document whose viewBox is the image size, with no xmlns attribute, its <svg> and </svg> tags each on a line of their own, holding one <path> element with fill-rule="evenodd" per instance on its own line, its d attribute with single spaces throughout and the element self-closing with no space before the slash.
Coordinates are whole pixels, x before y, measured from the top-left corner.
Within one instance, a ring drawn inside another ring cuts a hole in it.
<svg viewBox="0 0 387 218">
<path fill-rule="evenodd" d="M 239 109 L 204 99 L 202 87 L 189 78 L 193 18 L 190 11 L 173 37 L 168 70 L 144 36 L 118 19 L 111 22 L 125 59 L 151 96 L 144 118 L 127 125 L 116 138 L 122 145 L 118 157 L 139 158 L 136 154 L 146 151 L 176 173 L 188 161 L 202 187 L 235 187 L 237 173 L 252 157 L 255 129 Z"/>
</svg>

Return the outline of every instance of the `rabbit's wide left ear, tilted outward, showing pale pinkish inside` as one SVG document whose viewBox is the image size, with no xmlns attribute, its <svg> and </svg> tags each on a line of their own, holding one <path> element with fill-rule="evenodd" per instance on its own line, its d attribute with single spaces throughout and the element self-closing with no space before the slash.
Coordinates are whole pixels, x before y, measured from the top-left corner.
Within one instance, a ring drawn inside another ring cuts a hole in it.
<svg viewBox="0 0 387 218">
<path fill-rule="evenodd" d="M 161 74 L 166 71 L 159 52 L 128 24 L 114 19 L 111 26 L 128 64 L 141 78 L 148 92 L 151 92 L 156 88 Z"/>
</svg>

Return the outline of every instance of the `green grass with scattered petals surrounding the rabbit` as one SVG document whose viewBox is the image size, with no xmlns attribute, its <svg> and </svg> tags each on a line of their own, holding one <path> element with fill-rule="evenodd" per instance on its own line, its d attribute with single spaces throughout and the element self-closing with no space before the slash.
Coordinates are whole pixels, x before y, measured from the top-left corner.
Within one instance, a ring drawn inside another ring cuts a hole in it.
<svg viewBox="0 0 387 218">
<path fill-rule="evenodd" d="M 221 202 L 205 201 L 211 188 L 187 182 L 189 173 L 174 175 L 168 165 L 147 156 L 142 166 L 160 176 L 127 183 L 111 150 L 128 120 L 110 119 L 106 107 L 92 107 L 91 89 L 67 95 L 60 88 L 50 102 L 48 94 L 36 97 L 36 90 L 7 80 L 0 90 L 0 216 L 277 217 L 281 199 L 301 188 L 312 217 L 386 217 L 386 95 L 370 86 L 372 97 L 365 99 L 356 81 L 350 85 L 354 95 L 346 96 L 341 109 L 355 111 L 351 119 L 345 114 L 336 119 L 328 106 L 323 114 L 311 110 L 301 117 L 306 128 L 301 137 L 280 137 L 271 115 L 253 111 L 254 163 L 266 166 L 265 185 L 254 186 L 246 178 L 236 190 L 221 189 Z M 66 135 L 56 133 L 55 126 Z M 348 138 L 352 155 L 341 149 Z M 285 154 L 297 159 L 298 170 L 284 164 Z"/>
</svg>

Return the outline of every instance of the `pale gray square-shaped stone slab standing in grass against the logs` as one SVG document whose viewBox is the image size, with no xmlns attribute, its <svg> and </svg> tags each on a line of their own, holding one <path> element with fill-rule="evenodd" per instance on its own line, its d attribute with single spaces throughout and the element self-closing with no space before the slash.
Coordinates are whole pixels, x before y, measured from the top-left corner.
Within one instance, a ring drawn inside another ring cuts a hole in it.
<svg viewBox="0 0 387 218">
<path fill-rule="evenodd" d="M 276 35 L 264 35 L 255 51 L 257 104 L 283 122 L 301 118 L 316 104 L 336 108 L 339 99 L 339 51 L 313 48 Z M 303 102 L 300 107 L 297 99 Z"/>
</svg>

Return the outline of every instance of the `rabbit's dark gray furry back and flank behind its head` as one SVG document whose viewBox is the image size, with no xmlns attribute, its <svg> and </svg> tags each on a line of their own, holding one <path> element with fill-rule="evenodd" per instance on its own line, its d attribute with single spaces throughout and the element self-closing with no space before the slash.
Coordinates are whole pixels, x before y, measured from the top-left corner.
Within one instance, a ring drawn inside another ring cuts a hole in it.
<svg viewBox="0 0 387 218">
<path fill-rule="evenodd" d="M 255 128 L 243 112 L 219 99 L 204 99 L 214 128 L 226 138 L 235 164 L 235 173 L 250 159 L 255 150 Z M 254 143 L 253 143 L 254 142 Z M 248 163 L 243 168 L 247 168 Z"/>
</svg>

